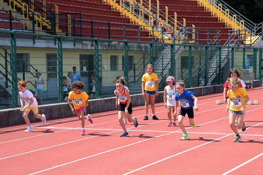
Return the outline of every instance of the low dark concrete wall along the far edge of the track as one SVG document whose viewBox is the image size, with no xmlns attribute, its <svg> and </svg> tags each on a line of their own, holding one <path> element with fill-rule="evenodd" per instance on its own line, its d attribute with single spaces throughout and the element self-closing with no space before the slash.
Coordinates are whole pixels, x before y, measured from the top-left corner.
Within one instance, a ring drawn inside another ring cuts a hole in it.
<svg viewBox="0 0 263 175">
<path fill-rule="evenodd" d="M 253 85 L 254 87 L 258 87 L 259 81 L 254 81 Z M 223 92 L 222 85 L 188 88 L 187 90 L 192 91 L 197 97 L 202 95 Z M 89 106 L 87 107 L 87 111 L 88 113 L 92 114 L 95 112 L 114 110 L 116 109 L 115 100 L 116 97 L 89 100 Z M 156 103 L 162 101 L 163 101 L 163 91 L 159 92 L 159 95 L 155 98 Z M 144 105 L 144 98 L 141 94 L 131 95 L 131 103 L 132 106 Z M 39 114 L 43 114 L 43 113 L 46 115 L 47 120 L 53 118 L 72 116 L 72 112 L 70 110 L 70 107 L 68 106 L 68 103 L 40 105 Z M 31 122 L 39 120 L 34 117 L 32 111 L 29 113 L 28 117 Z M 0 127 L 17 125 L 17 124 L 25 124 L 24 118 L 22 116 L 22 112 L 19 110 L 19 108 L 0 110 Z"/>
</svg>

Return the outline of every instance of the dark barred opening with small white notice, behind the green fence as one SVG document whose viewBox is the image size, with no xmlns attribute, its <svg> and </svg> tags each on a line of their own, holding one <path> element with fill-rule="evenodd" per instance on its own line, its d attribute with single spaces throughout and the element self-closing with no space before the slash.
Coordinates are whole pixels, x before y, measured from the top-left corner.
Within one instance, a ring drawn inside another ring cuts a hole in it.
<svg viewBox="0 0 263 175">
<path fill-rule="evenodd" d="M 94 54 L 79 54 L 80 76 L 91 77 L 94 73 Z"/>
</svg>

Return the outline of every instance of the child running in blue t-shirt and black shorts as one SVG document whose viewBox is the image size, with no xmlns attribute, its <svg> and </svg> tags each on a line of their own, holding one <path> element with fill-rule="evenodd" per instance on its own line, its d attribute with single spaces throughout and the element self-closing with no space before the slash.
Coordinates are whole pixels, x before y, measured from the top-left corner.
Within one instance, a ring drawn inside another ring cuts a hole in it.
<svg viewBox="0 0 263 175">
<path fill-rule="evenodd" d="M 184 80 L 179 80 L 175 85 L 176 85 L 177 93 L 175 94 L 174 115 L 176 115 L 176 109 L 180 101 L 181 110 L 178 115 L 178 123 L 179 123 L 180 128 L 184 132 L 180 140 L 185 140 L 189 138 L 189 135 L 187 134 L 184 128 L 183 120 L 184 120 L 185 115 L 187 114 L 188 119 L 189 119 L 189 124 L 192 127 L 195 127 L 195 122 L 193 119 L 194 117 L 193 106 L 194 106 L 195 111 L 198 111 L 198 107 L 197 107 L 198 99 L 197 97 L 194 96 L 193 92 L 184 90 L 185 88 Z"/>
</svg>

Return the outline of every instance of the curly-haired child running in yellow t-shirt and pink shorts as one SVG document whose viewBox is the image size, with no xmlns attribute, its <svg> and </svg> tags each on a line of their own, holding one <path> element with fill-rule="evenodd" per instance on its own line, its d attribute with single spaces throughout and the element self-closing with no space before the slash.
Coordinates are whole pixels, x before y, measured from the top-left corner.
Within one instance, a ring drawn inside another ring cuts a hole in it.
<svg viewBox="0 0 263 175">
<path fill-rule="evenodd" d="M 93 123 L 93 120 L 89 114 L 86 117 L 84 116 L 84 113 L 85 114 L 87 113 L 86 107 L 88 106 L 89 95 L 86 94 L 86 92 L 80 91 L 80 90 L 84 89 L 84 84 L 81 81 L 73 82 L 71 84 L 71 89 L 72 89 L 72 91 L 68 94 L 68 104 L 71 108 L 72 113 L 75 114 L 75 111 L 76 111 L 79 120 L 81 120 L 82 130 L 81 130 L 80 135 L 84 136 L 85 135 L 85 130 L 84 130 L 85 119 L 87 119 L 87 120 L 89 120 L 89 122 Z M 72 107 L 70 100 L 72 101 L 72 104 L 73 104 L 75 110 Z"/>
</svg>

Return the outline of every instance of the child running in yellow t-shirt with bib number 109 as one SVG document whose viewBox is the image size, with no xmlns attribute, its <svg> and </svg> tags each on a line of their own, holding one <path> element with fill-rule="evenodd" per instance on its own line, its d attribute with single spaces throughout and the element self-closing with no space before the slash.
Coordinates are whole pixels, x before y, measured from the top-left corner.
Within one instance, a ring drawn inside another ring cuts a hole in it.
<svg viewBox="0 0 263 175">
<path fill-rule="evenodd" d="M 236 134 L 233 142 L 238 142 L 241 140 L 240 135 L 235 127 L 235 118 L 238 119 L 238 128 L 242 129 L 242 131 L 246 130 L 246 125 L 244 122 L 244 115 L 246 104 L 249 100 L 248 94 L 245 88 L 239 88 L 240 79 L 237 78 L 228 78 L 228 84 L 231 89 L 227 92 L 227 96 L 229 97 L 228 105 L 226 107 L 226 113 L 229 109 L 229 125 L 233 132 Z"/>
</svg>

